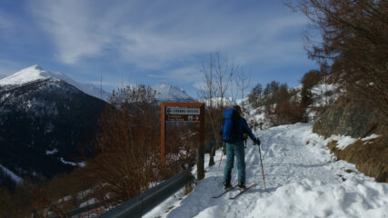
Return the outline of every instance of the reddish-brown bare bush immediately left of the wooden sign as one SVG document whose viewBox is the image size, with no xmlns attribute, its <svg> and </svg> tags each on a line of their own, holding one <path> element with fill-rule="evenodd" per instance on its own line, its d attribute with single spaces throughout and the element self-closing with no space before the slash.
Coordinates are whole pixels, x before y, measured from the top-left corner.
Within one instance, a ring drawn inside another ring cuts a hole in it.
<svg viewBox="0 0 388 218">
<path fill-rule="evenodd" d="M 139 85 L 120 88 L 108 99 L 94 145 L 96 157 L 87 164 L 87 178 L 105 193 L 130 199 L 160 179 L 160 129 L 155 91 Z"/>
</svg>

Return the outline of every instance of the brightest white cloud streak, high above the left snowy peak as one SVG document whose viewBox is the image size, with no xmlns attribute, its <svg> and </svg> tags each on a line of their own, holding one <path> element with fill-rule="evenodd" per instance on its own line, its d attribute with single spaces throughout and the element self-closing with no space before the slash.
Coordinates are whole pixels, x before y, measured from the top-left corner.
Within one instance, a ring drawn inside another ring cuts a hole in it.
<svg viewBox="0 0 388 218">
<path fill-rule="evenodd" d="M 109 35 L 98 17 L 88 13 L 85 1 L 41 1 L 33 5 L 39 25 L 55 42 L 57 55 L 65 64 L 75 64 L 81 57 L 100 54 Z"/>
</svg>

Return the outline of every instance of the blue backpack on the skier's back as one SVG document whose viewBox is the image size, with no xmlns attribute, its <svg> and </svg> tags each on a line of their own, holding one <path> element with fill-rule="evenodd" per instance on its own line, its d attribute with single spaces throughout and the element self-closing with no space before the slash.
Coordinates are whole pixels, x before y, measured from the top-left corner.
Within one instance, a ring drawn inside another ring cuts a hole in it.
<svg viewBox="0 0 388 218">
<path fill-rule="evenodd" d="M 233 143 L 239 138 L 240 115 L 234 109 L 224 111 L 224 125 L 222 139 L 226 143 Z"/>
</svg>

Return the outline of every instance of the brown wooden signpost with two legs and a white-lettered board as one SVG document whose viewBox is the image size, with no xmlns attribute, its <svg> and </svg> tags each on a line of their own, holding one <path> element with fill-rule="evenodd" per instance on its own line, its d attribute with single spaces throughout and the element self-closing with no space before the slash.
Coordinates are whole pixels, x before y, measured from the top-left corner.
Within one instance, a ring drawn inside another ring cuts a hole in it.
<svg viewBox="0 0 388 218">
<path fill-rule="evenodd" d="M 165 123 L 184 122 L 200 124 L 200 143 L 197 148 L 197 179 L 204 178 L 204 103 L 162 103 L 161 104 L 161 164 L 165 167 Z"/>
</svg>

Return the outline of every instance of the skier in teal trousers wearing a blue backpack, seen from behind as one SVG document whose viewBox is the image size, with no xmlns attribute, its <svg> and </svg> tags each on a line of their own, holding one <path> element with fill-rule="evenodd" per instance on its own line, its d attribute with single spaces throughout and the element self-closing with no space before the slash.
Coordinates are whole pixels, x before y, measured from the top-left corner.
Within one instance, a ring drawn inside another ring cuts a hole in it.
<svg viewBox="0 0 388 218">
<path fill-rule="evenodd" d="M 224 124 L 221 130 L 221 134 L 224 142 L 226 143 L 226 165 L 224 168 L 224 189 L 232 188 L 231 185 L 231 173 L 234 167 L 234 155 L 237 159 L 237 171 L 238 171 L 238 187 L 240 190 L 246 189 L 245 186 L 245 154 L 244 154 L 244 143 L 243 143 L 243 134 L 246 133 L 254 141 L 254 144 L 260 145 L 259 138 L 256 138 L 252 134 L 251 129 L 246 120 L 242 117 L 242 111 L 239 105 L 234 105 L 233 109 L 229 109 L 231 114 L 236 113 L 236 118 L 233 118 L 235 121 L 230 124 L 233 124 L 233 127 L 228 126 L 228 122 L 225 121 L 225 114 L 229 113 L 228 110 L 224 112 Z M 231 116 L 232 117 L 232 116 Z M 227 129 L 231 129 L 228 133 Z M 229 137 L 228 137 L 229 135 Z M 232 136 L 230 136 L 232 135 Z"/>
</svg>

